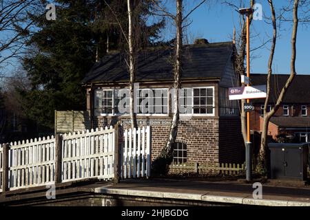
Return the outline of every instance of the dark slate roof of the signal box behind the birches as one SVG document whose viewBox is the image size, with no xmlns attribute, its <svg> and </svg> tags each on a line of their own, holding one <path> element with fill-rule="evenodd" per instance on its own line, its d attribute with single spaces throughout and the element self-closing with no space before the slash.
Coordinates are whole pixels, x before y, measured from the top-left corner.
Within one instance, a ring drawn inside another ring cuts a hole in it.
<svg viewBox="0 0 310 220">
<path fill-rule="evenodd" d="M 232 56 L 232 42 L 185 45 L 182 79 L 220 78 Z M 136 81 L 173 80 L 173 49 L 145 50 L 138 54 Z M 125 56 L 110 52 L 97 62 L 82 83 L 128 82 Z"/>
</svg>

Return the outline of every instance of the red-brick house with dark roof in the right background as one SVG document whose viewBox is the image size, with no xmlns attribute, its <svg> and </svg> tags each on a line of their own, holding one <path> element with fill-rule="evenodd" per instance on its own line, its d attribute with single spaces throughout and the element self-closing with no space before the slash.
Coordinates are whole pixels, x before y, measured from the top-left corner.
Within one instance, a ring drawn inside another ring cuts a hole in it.
<svg viewBox="0 0 310 220">
<path fill-rule="evenodd" d="M 271 76 L 271 97 L 267 111 L 273 107 L 287 78 L 287 74 Z M 251 74 L 252 85 L 265 85 L 266 82 L 267 74 Z M 262 131 L 264 102 L 265 99 L 252 100 L 255 111 L 251 112 L 251 131 L 256 133 Z M 268 130 L 269 137 L 279 142 L 310 142 L 310 75 L 295 76 L 280 108 L 271 118 Z"/>
</svg>

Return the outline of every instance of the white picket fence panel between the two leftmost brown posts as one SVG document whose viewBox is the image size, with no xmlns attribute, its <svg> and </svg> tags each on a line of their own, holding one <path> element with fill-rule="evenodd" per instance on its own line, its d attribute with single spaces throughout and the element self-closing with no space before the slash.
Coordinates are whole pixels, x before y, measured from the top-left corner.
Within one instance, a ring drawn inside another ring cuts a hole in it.
<svg viewBox="0 0 310 220">
<path fill-rule="evenodd" d="M 10 144 L 8 177 L 11 190 L 54 182 L 54 142 L 54 137 L 48 136 Z"/>
</svg>

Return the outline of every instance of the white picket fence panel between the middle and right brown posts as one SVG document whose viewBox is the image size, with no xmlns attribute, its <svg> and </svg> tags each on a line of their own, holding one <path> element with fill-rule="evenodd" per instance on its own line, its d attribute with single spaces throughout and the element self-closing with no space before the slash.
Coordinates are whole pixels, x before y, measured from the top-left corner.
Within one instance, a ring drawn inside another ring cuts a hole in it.
<svg viewBox="0 0 310 220">
<path fill-rule="evenodd" d="M 63 135 L 63 181 L 114 177 L 114 129 Z"/>
</svg>

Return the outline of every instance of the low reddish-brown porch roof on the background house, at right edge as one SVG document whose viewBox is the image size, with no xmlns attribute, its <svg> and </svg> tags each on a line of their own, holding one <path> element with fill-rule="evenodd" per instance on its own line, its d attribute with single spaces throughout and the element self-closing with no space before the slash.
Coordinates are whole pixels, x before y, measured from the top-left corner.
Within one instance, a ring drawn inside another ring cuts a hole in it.
<svg viewBox="0 0 310 220">
<path fill-rule="evenodd" d="M 270 122 L 280 127 L 310 128 L 310 117 L 272 117 Z"/>
</svg>

